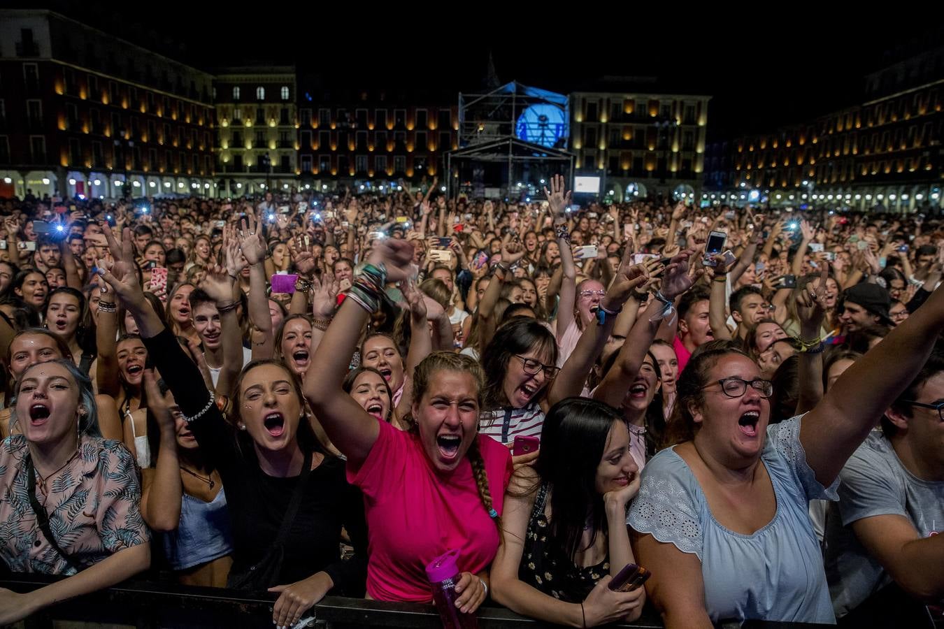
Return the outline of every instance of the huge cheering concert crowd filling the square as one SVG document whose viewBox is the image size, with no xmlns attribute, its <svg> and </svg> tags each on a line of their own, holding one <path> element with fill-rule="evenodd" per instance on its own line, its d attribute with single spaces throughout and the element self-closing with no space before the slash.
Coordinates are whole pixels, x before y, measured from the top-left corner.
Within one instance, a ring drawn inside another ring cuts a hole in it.
<svg viewBox="0 0 944 629">
<path fill-rule="evenodd" d="M 544 192 L 0 200 L 0 557 L 67 577 L 0 624 L 139 573 L 278 627 L 933 611 L 944 222 Z"/>
</svg>

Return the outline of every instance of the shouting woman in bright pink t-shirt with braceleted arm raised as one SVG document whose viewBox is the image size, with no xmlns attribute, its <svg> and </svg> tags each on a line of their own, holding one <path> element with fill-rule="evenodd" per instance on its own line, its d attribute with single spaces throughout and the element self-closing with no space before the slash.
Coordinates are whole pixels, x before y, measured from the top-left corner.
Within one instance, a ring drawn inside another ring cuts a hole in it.
<svg viewBox="0 0 944 629">
<path fill-rule="evenodd" d="M 430 602 L 426 564 L 457 549 L 463 572 L 456 604 L 472 612 L 488 592 L 501 499 L 512 473 L 508 450 L 478 433 L 480 366 L 447 352 L 426 357 L 413 374 L 412 427 L 405 432 L 368 414 L 341 388 L 362 324 L 379 307 L 387 281 L 412 273 L 412 259 L 405 240 L 374 249 L 318 345 L 319 369 L 308 372 L 305 394 L 347 456 L 348 479 L 363 492 L 368 596 Z"/>
</svg>

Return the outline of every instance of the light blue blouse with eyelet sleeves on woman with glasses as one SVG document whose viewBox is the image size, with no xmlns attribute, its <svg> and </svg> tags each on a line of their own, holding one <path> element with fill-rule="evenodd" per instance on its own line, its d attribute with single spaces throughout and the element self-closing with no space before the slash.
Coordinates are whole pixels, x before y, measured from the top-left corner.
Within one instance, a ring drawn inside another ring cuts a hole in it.
<svg viewBox="0 0 944 629">
<path fill-rule="evenodd" d="M 705 607 L 713 622 L 761 619 L 834 623 L 826 573 L 808 505 L 836 500 L 806 463 L 801 417 L 767 427 L 761 460 L 777 498 L 773 520 L 740 535 L 719 524 L 698 480 L 668 448 L 646 465 L 627 523 L 701 561 Z"/>
</svg>

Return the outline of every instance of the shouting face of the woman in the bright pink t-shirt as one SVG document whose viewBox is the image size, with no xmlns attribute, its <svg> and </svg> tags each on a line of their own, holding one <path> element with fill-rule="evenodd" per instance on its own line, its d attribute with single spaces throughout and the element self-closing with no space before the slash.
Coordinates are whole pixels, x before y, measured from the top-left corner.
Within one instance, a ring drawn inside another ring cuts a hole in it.
<svg viewBox="0 0 944 629">
<path fill-rule="evenodd" d="M 478 434 L 479 389 L 469 372 L 440 370 L 413 402 L 423 450 L 438 472 L 452 472 Z"/>
</svg>

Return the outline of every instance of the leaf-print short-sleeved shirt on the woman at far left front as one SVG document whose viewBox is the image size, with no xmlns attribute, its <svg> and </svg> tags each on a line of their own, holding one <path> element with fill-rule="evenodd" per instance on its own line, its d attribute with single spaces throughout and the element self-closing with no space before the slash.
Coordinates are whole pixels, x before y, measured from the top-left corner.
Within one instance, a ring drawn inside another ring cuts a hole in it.
<svg viewBox="0 0 944 629">
<path fill-rule="evenodd" d="M 0 558 L 11 571 L 75 574 L 29 505 L 28 456 L 23 435 L 0 441 Z M 149 539 L 134 456 L 120 441 L 84 436 L 59 472 L 44 481 L 37 475 L 36 498 L 59 548 L 82 567 Z"/>
</svg>

